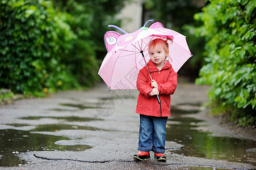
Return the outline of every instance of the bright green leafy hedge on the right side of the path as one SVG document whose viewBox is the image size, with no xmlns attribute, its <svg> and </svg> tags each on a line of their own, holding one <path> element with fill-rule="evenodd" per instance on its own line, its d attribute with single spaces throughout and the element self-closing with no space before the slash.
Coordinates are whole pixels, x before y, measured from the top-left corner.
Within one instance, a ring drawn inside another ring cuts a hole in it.
<svg viewBox="0 0 256 170">
<path fill-rule="evenodd" d="M 205 61 L 198 84 L 209 84 L 213 111 L 228 113 L 232 121 L 255 124 L 256 105 L 256 16 L 254 0 L 211 0 L 194 16 L 204 25 Z"/>
</svg>

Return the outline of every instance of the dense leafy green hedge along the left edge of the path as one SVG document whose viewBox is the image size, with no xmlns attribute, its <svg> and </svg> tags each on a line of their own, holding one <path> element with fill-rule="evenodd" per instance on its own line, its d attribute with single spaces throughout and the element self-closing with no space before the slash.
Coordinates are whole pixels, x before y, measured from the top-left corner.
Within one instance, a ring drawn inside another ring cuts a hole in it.
<svg viewBox="0 0 256 170">
<path fill-rule="evenodd" d="M 63 57 L 77 36 L 51 1 L 0 1 L 0 87 L 42 96 L 78 87 Z"/>
</svg>

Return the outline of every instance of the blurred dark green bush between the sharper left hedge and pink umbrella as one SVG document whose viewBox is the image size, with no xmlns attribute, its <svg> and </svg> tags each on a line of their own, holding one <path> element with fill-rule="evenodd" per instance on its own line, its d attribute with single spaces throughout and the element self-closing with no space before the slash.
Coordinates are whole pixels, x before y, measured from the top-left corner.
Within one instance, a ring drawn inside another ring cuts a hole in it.
<svg viewBox="0 0 256 170">
<path fill-rule="evenodd" d="M 127 1 L 127 0 L 126 0 Z M 70 53 L 65 56 L 65 64 L 83 86 L 91 86 L 96 79 L 99 63 L 106 56 L 103 36 L 108 24 L 116 24 L 113 16 L 123 6 L 124 0 L 54 0 L 54 8 L 66 14 L 66 23 L 78 39 Z M 97 59 L 99 61 L 97 62 Z"/>
</svg>

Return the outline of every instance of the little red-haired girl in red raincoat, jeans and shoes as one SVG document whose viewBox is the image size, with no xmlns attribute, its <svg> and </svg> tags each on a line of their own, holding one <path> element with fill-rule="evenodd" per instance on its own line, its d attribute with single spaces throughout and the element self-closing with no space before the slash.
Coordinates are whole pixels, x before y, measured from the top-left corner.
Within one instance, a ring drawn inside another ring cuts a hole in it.
<svg viewBox="0 0 256 170">
<path fill-rule="evenodd" d="M 172 41 L 154 39 L 149 43 L 150 60 L 148 68 L 143 67 L 137 78 L 137 89 L 140 91 L 137 100 L 136 113 L 140 114 L 140 132 L 138 154 L 133 155 L 135 160 L 149 160 L 149 151 L 154 152 L 157 161 L 166 162 L 165 137 L 166 122 L 170 114 L 170 95 L 177 87 L 177 73 L 167 61 L 169 44 Z M 152 76 L 150 79 L 149 71 Z M 159 95 L 161 107 L 157 101 Z"/>
</svg>

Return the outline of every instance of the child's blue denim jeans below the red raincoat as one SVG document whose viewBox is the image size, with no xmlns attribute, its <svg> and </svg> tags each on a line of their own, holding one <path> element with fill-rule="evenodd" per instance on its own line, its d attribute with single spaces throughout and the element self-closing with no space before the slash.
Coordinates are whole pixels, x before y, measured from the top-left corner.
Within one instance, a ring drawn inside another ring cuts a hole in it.
<svg viewBox="0 0 256 170">
<path fill-rule="evenodd" d="M 140 114 L 139 151 L 165 152 L 167 118 Z"/>
</svg>

